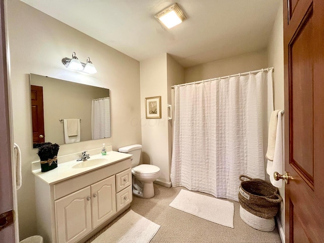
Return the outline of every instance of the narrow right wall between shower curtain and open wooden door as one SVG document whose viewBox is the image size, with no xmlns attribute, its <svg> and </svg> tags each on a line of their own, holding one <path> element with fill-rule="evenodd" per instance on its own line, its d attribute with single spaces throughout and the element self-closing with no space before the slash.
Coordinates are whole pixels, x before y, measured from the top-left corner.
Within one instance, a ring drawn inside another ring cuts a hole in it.
<svg viewBox="0 0 324 243">
<path fill-rule="evenodd" d="M 282 16 L 282 2 L 272 27 L 271 36 L 268 43 L 268 65 L 274 67 L 273 72 L 273 90 L 274 90 L 274 109 L 284 110 L 284 17 Z M 285 115 L 283 116 L 283 118 Z M 284 122 L 282 123 L 284 124 Z M 282 131 L 282 138 L 285 132 Z M 284 143 L 283 143 L 284 145 Z M 285 149 L 283 149 L 285 151 Z M 285 165 L 282 165 L 285 167 Z M 285 184 L 285 183 L 284 183 Z M 280 205 L 279 219 L 285 231 L 285 186 L 279 188 L 279 193 L 284 199 Z"/>
</svg>

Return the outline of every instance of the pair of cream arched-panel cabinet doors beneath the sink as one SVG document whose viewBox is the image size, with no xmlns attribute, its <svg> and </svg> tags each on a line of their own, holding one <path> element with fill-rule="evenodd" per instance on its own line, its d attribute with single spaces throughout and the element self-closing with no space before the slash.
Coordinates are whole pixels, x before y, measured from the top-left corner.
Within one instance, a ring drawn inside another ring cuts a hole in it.
<svg viewBox="0 0 324 243">
<path fill-rule="evenodd" d="M 116 213 L 115 176 L 55 201 L 58 242 L 75 242 Z"/>
</svg>

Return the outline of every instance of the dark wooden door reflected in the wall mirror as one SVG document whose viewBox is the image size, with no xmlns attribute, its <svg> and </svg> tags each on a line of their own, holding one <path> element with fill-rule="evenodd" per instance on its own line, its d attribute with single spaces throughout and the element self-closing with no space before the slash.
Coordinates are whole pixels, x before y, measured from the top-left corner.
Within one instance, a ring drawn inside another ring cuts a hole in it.
<svg viewBox="0 0 324 243">
<path fill-rule="evenodd" d="M 31 118 L 32 118 L 32 143 L 37 148 L 39 143 L 45 142 L 44 134 L 44 104 L 43 87 L 30 86 L 31 96 Z"/>
</svg>

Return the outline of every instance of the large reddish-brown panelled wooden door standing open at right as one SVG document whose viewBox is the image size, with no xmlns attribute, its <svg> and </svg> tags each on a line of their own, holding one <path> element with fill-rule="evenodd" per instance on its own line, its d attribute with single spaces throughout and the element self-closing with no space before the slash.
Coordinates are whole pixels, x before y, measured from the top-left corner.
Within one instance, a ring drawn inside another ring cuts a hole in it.
<svg viewBox="0 0 324 243">
<path fill-rule="evenodd" d="M 323 0 L 284 0 L 284 49 L 286 243 L 324 242 Z"/>
</svg>

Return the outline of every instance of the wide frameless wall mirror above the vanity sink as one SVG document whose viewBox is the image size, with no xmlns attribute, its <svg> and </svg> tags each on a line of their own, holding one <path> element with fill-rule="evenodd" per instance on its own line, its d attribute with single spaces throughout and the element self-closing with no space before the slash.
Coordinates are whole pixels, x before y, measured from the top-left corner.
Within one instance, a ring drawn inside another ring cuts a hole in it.
<svg viewBox="0 0 324 243">
<path fill-rule="evenodd" d="M 30 74 L 33 148 L 111 137 L 109 89 Z"/>
</svg>

